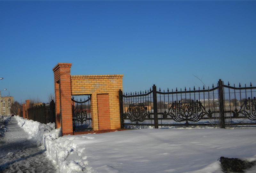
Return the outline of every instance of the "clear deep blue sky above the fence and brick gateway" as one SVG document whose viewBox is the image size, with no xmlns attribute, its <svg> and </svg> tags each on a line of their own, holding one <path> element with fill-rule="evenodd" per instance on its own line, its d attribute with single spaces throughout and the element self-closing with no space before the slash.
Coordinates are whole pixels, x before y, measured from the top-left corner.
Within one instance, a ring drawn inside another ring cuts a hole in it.
<svg viewBox="0 0 256 173">
<path fill-rule="evenodd" d="M 0 1 L 0 58 L 19 102 L 47 102 L 58 62 L 124 74 L 124 91 L 256 85 L 256 1 Z"/>
</svg>

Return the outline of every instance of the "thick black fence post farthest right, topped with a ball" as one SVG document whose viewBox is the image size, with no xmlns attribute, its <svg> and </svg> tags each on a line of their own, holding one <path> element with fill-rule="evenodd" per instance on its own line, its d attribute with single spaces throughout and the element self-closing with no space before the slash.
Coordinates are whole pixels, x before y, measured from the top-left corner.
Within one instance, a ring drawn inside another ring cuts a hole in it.
<svg viewBox="0 0 256 173">
<path fill-rule="evenodd" d="M 223 81 L 218 81 L 219 90 L 219 103 L 220 103 L 220 128 L 225 129 L 225 113 L 224 113 L 224 92 Z"/>
</svg>

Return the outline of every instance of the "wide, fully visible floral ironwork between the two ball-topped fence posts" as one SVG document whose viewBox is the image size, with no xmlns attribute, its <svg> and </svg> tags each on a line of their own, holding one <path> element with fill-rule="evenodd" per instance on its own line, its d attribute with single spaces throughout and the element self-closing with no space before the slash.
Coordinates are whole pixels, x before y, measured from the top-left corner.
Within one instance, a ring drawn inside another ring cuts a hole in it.
<svg viewBox="0 0 256 173">
<path fill-rule="evenodd" d="M 172 106 L 168 109 L 168 112 L 164 111 L 163 118 L 170 116 L 176 122 L 188 121 L 197 122 L 201 120 L 205 115 L 209 118 L 212 118 L 212 111 L 209 109 L 205 110 L 205 107 L 201 102 L 173 102 Z"/>
</svg>

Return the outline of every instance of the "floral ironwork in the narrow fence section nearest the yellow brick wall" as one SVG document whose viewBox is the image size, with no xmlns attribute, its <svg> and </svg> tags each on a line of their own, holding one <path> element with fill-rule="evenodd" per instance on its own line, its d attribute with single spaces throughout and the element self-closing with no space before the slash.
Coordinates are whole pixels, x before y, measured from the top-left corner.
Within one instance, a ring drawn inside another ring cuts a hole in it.
<svg viewBox="0 0 256 173">
<path fill-rule="evenodd" d="M 124 113 L 124 119 L 129 118 L 130 121 L 136 122 L 143 122 L 146 117 L 150 118 L 149 111 L 147 112 L 147 107 L 143 103 L 129 105 L 127 112 Z"/>
</svg>

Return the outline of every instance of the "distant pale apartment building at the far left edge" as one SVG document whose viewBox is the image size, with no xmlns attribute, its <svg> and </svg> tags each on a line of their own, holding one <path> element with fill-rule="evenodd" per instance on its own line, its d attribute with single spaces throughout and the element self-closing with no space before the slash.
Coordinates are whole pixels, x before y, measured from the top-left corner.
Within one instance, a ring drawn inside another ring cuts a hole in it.
<svg viewBox="0 0 256 173">
<path fill-rule="evenodd" d="M 0 93 L 0 114 L 11 115 L 11 108 L 13 104 L 13 97 L 2 97 Z"/>
</svg>

